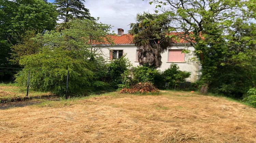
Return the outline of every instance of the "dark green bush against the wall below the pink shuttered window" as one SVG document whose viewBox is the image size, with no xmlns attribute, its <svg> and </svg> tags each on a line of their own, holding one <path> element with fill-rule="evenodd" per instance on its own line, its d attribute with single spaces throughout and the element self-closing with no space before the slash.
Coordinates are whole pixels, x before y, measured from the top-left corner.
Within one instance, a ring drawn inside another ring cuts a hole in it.
<svg viewBox="0 0 256 143">
<path fill-rule="evenodd" d="M 181 83 L 184 83 L 189 76 L 190 72 L 179 70 L 176 64 L 171 64 L 170 67 L 162 73 L 166 88 L 174 90 L 178 88 Z"/>
</svg>

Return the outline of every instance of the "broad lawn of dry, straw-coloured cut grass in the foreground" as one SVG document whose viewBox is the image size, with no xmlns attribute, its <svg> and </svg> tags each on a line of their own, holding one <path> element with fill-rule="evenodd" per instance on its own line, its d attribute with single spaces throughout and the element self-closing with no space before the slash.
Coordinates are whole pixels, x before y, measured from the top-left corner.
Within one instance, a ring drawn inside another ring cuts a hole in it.
<svg viewBox="0 0 256 143">
<path fill-rule="evenodd" d="M 0 115 L 0 142 L 256 142 L 255 108 L 190 92 L 112 92 Z"/>
</svg>

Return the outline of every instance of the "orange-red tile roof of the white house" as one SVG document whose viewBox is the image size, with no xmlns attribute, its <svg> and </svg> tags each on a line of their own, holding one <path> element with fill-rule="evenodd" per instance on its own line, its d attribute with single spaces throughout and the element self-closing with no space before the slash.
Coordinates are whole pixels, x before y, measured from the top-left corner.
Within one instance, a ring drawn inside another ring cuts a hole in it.
<svg viewBox="0 0 256 143">
<path fill-rule="evenodd" d="M 177 33 L 171 33 L 171 34 L 174 34 L 176 35 Z M 133 35 L 131 34 L 124 34 L 124 35 L 108 35 L 108 38 L 110 38 L 114 44 L 116 45 L 122 45 L 122 44 L 134 44 L 133 43 Z M 96 45 L 98 44 L 102 44 L 102 45 L 110 45 L 110 44 L 113 44 L 113 43 L 110 43 L 110 42 L 107 42 L 107 40 L 105 40 L 106 42 L 104 43 L 94 43 Z M 174 43 L 188 43 L 186 40 L 184 39 L 180 39 L 179 42 L 176 41 Z"/>
</svg>

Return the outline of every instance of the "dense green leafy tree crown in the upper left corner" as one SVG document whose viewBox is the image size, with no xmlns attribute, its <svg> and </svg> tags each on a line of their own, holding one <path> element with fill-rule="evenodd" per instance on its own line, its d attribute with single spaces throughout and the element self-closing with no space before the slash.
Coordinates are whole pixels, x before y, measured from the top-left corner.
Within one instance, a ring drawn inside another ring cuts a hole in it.
<svg viewBox="0 0 256 143">
<path fill-rule="evenodd" d="M 0 1 L 1 28 L 5 30 L 6 38 L 16 44 L 16 39 L 20 39 L 28 30 L 44 32 L 53 30 L 56 26 L 57 11 L 51 3 L 43 0 L 16 0 Z"/>
</svg>

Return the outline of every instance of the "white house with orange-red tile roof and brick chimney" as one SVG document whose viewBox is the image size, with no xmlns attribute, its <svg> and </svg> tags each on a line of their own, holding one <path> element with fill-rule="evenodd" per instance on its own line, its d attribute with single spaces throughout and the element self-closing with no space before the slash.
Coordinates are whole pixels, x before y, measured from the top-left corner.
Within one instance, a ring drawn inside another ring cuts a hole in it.
<svg viewBox="0 0 256 143">
<path fill-rule="evenodd" d="M 104 58 L 111 61 L 118 59 L 123 55 L 130 60 L 133 66 L 139 65 L 137 59 L 137 47 L 133 43 L 133 35 L 124 34 L 123 29 L 118 29 L 117 35 L 109 35 L 115 45 L 111 46 L 110 43 L 105 43 L 101 49 Z M 188 49 L 190 53 L 182 53 L 183 49 Z M 164 71 L 172 63 L 177 64 L 182 71 L 190 72 L 191 75 L 187 79 L 189 82 L 195 82 L 199 75 L 199 64 L 193 60 L 195 55 L 193 54 L 194 47 L 190 46 L 189 43 L 181 40 L 175 43 L 168 51 L 162 53 L 162 65 L 159 68 Z"/>
</svg>

